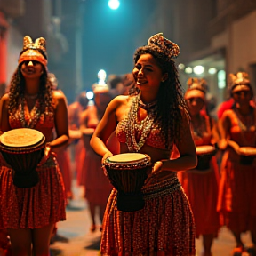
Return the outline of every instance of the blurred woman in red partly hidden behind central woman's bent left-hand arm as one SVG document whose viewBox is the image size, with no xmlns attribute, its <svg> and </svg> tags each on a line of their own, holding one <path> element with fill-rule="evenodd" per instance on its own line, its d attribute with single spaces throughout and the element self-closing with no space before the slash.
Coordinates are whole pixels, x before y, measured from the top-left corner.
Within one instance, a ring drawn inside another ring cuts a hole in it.
<svg viewBox="0 0 256 256">
<path fill-rule="evenodd" d="M 92 150 L 90 140 L 94 129 L 100 122 L 109 101 L 112 99 L 108 86 L 94 84 L 93 87 L 95 105 L 88 107 L 81 114 L 80 130 L 84 141 L 85 157 L 82 162 L 80 184 L 84 185 L 85 198 L 89 204 L 92 225 L 90 230 L 96 230 L 96 208 L 99 207 L 100 222 L 103 220 L 103 214 L 108 202 L 108 196 L 112 186 L 101 169 L 101 157 Z M 81 155 L 84 152 L 81 151 Z M 82 155 L 82 156 L 83 156 Z M 101 229 L 101 228 L 100 228 Z"/>
</svg>

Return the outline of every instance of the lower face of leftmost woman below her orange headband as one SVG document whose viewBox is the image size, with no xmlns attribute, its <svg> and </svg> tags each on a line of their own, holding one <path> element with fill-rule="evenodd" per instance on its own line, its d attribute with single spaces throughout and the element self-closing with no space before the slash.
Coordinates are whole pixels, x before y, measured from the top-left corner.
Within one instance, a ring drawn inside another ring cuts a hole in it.
<svg viewBox="0 0 256 256">
<path fill-rule="evenodd" d="M 25 78 L 38 78 L 44 73 L 44 68 L 36 60 L 26 60 L 22 62 L 20 71 Z"/>
</svg>

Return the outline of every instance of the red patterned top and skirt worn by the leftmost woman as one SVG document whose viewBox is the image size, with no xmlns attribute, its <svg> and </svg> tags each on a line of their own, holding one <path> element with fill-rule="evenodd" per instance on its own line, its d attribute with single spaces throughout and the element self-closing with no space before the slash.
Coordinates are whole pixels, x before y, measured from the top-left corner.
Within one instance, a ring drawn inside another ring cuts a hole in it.
<svg viewBox="0 0 256 256">
<path fill-rule="evenodd" d="M 29 118 L 28 108 L 24 110 Z M 20 109 L 9 117 L 12 129 L 21 128 Z M 35 129 L 42 132 L 46 141 L 52 139 L 53 113 L 44 115 Z M 32 188 L 17 188 L 13 185 L 13 170 L 0 163 L 0 228 L 42 228 L 60 220 L 66 220 L 66 198 L 62 176 L 52 154 L 38 166 L 39 182 Z"/>
</svg>

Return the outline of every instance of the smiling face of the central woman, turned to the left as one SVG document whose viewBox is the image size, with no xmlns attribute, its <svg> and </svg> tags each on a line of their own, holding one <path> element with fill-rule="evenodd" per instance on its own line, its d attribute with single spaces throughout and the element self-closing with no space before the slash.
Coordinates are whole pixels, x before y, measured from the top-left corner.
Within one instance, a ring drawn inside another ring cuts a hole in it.
<svg viewBox="0 0 256 256">
<path fill-rule="evenodd" d="M 167 78 L 167 73 L 163 74 L 161 68 L 157 65 L 156 59 L 149 53 L 140 55 L 132 74 L 135 84 L 141 92 L 157 93 L 160 83 Z"/>
</svg>

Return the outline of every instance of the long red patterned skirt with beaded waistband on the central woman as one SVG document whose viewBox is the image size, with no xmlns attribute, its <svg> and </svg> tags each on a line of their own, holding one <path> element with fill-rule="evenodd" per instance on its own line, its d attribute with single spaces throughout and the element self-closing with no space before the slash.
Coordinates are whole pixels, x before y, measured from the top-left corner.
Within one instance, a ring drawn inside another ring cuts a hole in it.
<svg viewBox="0 0 256 256">
<path fill-rule="evenodd" d="M 145 207 L 137 212 L 118 211 L 116 194 L 108 199 L 100 255 L 196 254 L 193 215 L 176 177 L 143 189 Z"/>
</svg>

